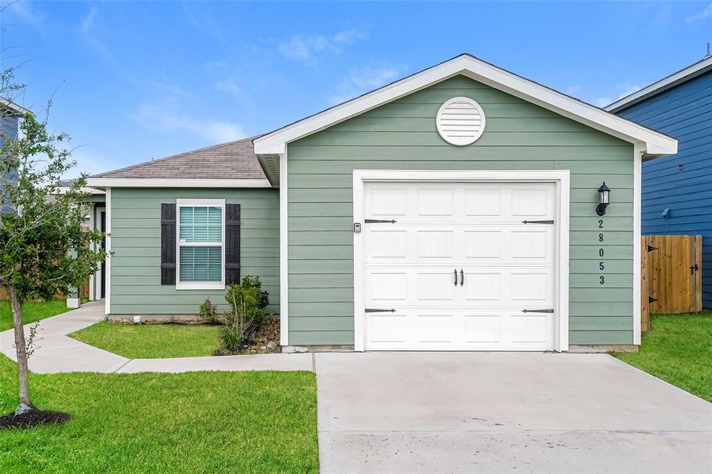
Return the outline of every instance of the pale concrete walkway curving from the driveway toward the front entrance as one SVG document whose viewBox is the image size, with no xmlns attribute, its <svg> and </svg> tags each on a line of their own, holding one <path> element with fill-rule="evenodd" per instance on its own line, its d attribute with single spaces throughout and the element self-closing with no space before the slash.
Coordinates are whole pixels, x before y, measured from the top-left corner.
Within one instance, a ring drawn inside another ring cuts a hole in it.
<svg viewBox="0 0 712 474">
<path fill-rule="evenodd" d="M 40 322 L 37 349 L 29 360 L 32 372 L 193 372 L 202 370 L 308 370 L 312 354 L 258 354 L 225 357 L 182 357 L 177 359 L 127 359 L 79 342 L 67 335 L 104 319 L 104 302 L 93 301 L 77 310 L 48 317 Z M 25 326 L 25 335 L 30 325 Z M 13 330 L 0 332 L 0 352 L 17 360 Z"/>
</svg>

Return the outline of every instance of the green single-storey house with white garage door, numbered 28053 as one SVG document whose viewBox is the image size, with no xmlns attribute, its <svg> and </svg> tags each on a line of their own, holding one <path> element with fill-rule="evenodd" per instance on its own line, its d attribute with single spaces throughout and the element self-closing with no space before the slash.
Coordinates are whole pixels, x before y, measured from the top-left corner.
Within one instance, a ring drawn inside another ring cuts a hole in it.
<svg viewBox="0 0 712 474">
<path fill-rule="evenodd" d="M 189 317 L 250 274 L 283 346 L 634 349 L 641 164 L 676 149 L 457 56 L 266 135 L 92 177 L 106 312 Z"/>
</svg>

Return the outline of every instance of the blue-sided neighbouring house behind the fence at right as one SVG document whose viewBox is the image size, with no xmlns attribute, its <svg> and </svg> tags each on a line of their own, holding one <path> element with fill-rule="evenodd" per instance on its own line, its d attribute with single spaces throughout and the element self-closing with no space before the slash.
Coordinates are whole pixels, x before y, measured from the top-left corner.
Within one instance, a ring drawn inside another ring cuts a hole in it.
<svg viewBox="0 0 712 474">
<path fill-rule="evenodd" d="M 712 56 L 605 110 L 679 140 L 643 163 L 642 233 L 701 234 L 702 305 L 712 307 Z"/>
</svg>

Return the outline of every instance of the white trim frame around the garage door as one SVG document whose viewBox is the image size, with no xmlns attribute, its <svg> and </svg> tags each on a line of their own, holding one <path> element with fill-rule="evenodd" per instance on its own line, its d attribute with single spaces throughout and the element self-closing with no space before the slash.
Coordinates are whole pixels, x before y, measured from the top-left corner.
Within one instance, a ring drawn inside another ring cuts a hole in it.
<svg viewBox="0 0 712 474">
<path fill-rule="evenodd" d="M 354 222 L 364 221 L 364 185 L 370 181 L 441 181 L 441 182 L 522 182 L 554 183 L 556 186 L 555 255 L 555 349 L 569 348 L 569 200 L 570 172 L 550 171 L 400 171 L 355 169 L 353 172 Z M 363 233 L 354 233 L 354 349 L 365 346 L 365 278 Z"/>
</svg>

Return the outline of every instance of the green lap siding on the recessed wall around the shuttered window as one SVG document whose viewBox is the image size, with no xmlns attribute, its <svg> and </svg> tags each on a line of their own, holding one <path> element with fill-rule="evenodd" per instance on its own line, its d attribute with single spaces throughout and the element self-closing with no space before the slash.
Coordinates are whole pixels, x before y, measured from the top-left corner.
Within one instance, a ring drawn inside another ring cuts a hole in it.
<svg viewBox="0 0 712 474">
<path fill-rule="evenodd" d="M 226 310 L 222 290 L 161 285 L 161 204 L 225 199 L 241 206 L 241 275 L 258 275 L 279 312 L 279 193 L 276 189 L 129 189 L 111 191 L 112 314 L 195 314 L 206 297 Z"/>
</svg>

